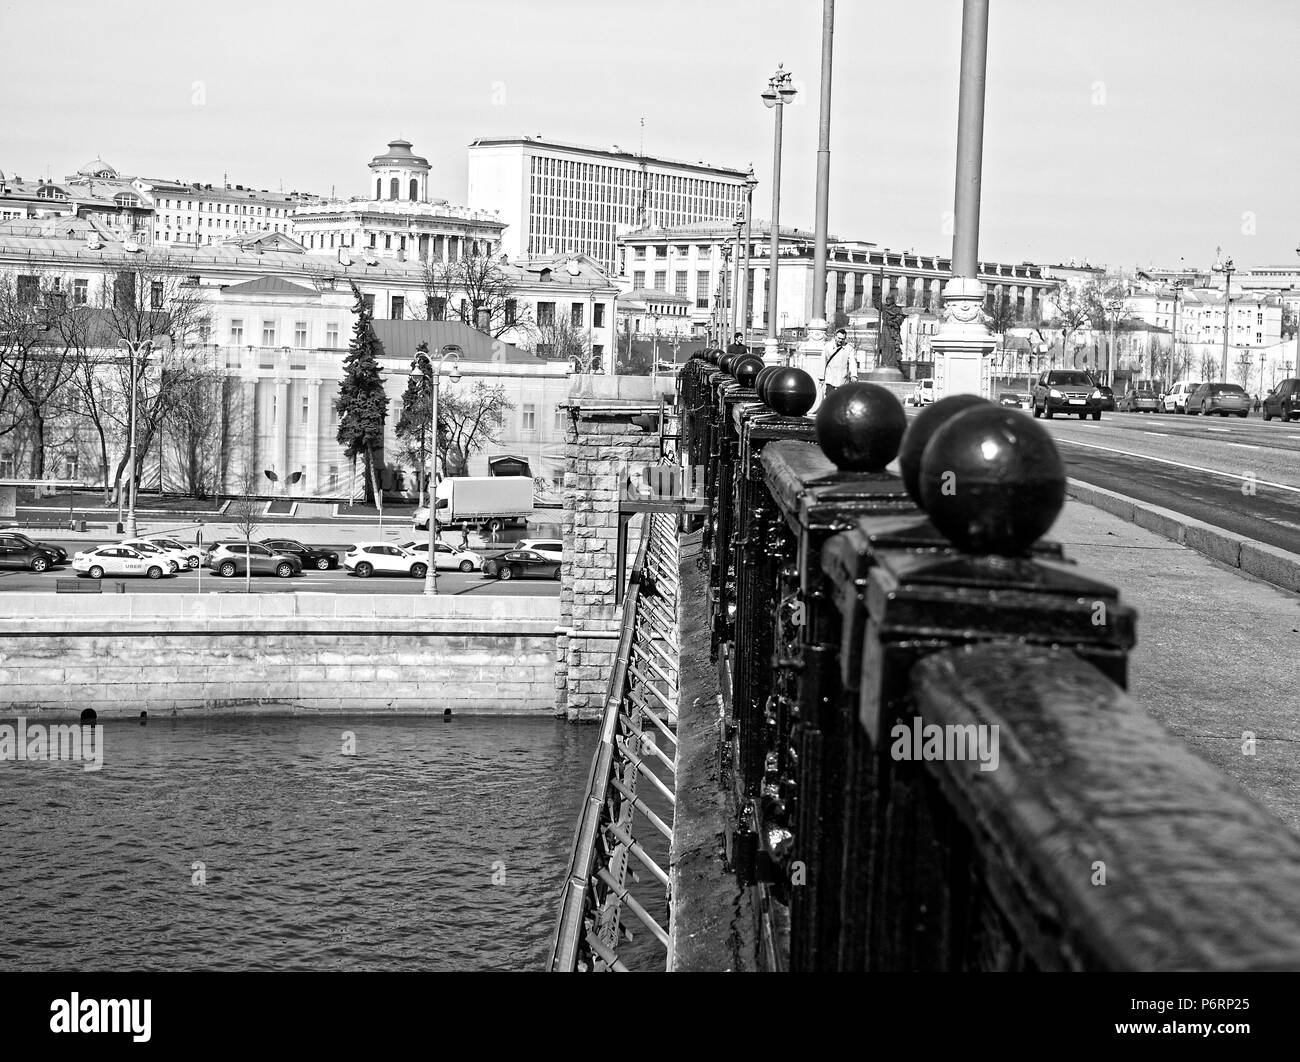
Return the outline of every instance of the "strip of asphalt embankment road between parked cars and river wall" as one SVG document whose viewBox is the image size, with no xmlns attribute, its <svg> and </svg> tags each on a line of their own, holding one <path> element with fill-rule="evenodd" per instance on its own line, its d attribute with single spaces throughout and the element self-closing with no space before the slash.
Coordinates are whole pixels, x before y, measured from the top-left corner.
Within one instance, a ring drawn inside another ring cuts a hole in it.
<svg viewBox="0 0 1300 1062">
<path fill-rule="evenodd" d="M 0 591 L 51 591 L 56 578 L 69 578 L 77 573 L 72 567 L 56 568 L 43 575 L 34 572 L 0 571 Z M 87 582 L 88 576 L 81 576 Z M 199 591 L 199 576 L 194 571 L 181 572 L 164 578 L 139 578 L 105 576 L 103 593 L 117 593 L 117 584 L 126 584 L 127 594 L 194 594 Z M 203 572 L 203 593 L 243 593 L 242 576 L 221 578 L 209 571 Z M 333 572 L 308 571 L 292 578 L 276 576 L 254 576 L 252 589 L 259 594 L 420 594 L 424 593 L 424 580 L 410 576 L 370 576 L 358 578 L 342 568 Z M 559 594 L 560 584 L 552 578 L 515 578 L 502 582 L 499 578 L 484 578 L 480 572 L 463 575 L 460 572 L 438 572 L 439 594 L 490 594 L 504 597 L 550 597 Z"/>
</svg>

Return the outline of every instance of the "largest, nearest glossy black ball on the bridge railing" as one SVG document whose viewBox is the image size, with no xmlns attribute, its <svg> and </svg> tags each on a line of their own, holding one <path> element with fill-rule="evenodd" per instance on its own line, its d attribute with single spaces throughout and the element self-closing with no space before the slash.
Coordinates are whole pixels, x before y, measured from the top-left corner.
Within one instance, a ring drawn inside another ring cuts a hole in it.
<svg viewBox="0 0 1300 1062">
<path fill-rule="evenodd" d="M 920 459 L 920 498 L 958 549 L 1023 556 L 1065 504 L 1065 465 L 1041 425 L 984 403 L 935 432 Z"/>
</svg>

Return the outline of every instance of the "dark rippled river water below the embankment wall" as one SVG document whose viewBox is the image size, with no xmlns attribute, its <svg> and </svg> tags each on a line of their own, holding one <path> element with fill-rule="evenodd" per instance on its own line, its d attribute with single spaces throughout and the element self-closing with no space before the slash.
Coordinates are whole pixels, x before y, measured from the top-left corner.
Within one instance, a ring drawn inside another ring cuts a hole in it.
<svg viewBox="0 0 1300 1062">
<path fill-rule="evenodd" d="M 541 968 L 597 737 L 152 720 L 99 772 L 0 763 L 0 968 Z"/>
</svg>

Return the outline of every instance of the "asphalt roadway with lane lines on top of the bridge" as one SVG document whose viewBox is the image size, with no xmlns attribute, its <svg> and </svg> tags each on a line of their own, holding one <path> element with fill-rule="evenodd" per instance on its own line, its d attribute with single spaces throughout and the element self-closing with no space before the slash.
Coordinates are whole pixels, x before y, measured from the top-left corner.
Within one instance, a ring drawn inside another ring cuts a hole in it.
<svg viewBox="0 0 1300 1062">
<path fill-rule="evenodd" d="M 1039 424 L 1071 478 L 1300 552 L 1300 421 L 1108 412 Z"/>
</svg>

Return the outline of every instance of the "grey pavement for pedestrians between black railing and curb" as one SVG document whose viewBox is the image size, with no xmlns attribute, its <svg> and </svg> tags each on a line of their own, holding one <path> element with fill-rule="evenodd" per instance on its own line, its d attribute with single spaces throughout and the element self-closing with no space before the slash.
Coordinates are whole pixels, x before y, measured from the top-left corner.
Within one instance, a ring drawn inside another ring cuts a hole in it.
<svg viewBox="0 0 1300 1062">
<path fill-rule="evenodd" d="M 1300 829 L 1300 595 L 1074 499 L 1048 537 L 1136 608 L 1130 695 Z"/>
</svg>

